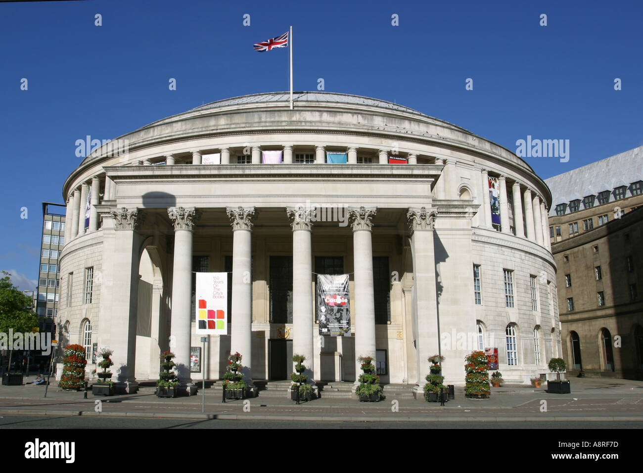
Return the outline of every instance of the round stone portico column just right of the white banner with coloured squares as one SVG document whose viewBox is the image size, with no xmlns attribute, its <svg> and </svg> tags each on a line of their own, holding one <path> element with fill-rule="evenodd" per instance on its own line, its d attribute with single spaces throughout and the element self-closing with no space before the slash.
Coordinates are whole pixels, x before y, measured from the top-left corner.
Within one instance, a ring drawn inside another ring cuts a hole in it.
<svg viewBox="0 0 643 473">
<path fill-rule="evenodd" d="M 251 236 L 255 207 L 226 209 L 233 230 L 232 248 L 232 333 L 230 352 L 242 356 L 244 380 L 252 384 L 252 281 Z"/>
</svg>

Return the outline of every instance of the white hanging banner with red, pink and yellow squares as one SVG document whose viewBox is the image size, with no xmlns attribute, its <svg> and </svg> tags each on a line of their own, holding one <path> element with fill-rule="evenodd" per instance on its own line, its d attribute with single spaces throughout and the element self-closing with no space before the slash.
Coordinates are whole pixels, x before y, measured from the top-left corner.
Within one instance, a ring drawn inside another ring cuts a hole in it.
<svg viewBox="0 0 643 473">
<path fill-rule="evenodd" d="M 197 273 L 197 335 L 228 335 L 228 273 Z"/>
</svg>

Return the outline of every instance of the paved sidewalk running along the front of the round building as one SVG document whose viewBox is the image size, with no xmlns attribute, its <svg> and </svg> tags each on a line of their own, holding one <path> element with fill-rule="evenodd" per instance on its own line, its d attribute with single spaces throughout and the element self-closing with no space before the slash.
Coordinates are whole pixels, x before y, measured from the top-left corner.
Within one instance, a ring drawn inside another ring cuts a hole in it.
<svg viewBox="0 0 643 473">
<path fill-rule="evenodd" d="M 28 380 L 31 382 L 32 380 Z M 539 422 L 547 421 L 643 421 L 643 382 L 574 378 L 571 394 L 549 394 L 532 386 L 509 385 L 491 389 L 491 398 L 469 399 L 456 391 L 455 400 L 444 406 L 423 400 L 388 396 L 381 402 L 359 402 L 351 399 L 321 398 L 296 405 L 283 397 L 262 397 L 222 403 L 220 393 L 205 390 L 180 398 L 158 398 L 154 389 L 143 387 L 136 394 L 93 396 L 84 399 L 83 392 L 62 391 L 51 384 L 44 398 L 44 385 L 0 386 L 0 415 L 32 414 L 55 416 L 115 416 L 145 418 L 190 418 L 228 420 L 327 420 L 377 421 L 409 420 L 435 422 Z M 209 391 L 209 392 L 208 392 Z M 386 387 L 384 390 L 386 395 Z M 100 403 L 96 403 L 96 401 Z M 542 400 L 547 411 L 541 411 Z M 100 413 L 96 412 L 100 404 Z"/>
</svg>

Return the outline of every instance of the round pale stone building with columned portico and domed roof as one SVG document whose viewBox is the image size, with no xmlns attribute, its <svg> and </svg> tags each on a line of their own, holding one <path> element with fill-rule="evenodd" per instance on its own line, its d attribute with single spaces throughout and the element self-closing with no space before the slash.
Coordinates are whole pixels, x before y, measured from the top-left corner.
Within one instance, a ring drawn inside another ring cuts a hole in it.
<svg viewBox="0 0 643 473">
<path fill-rule="evenodd" d="M 492 188 L 490 190 L 490 187 Z M 114 351 L 128 392 L 176 353 L 201 373 L 195 273 L 228 273 L 227 335 L 207 379 L 239 351 L 249 382 L 383 383 L 422 393 L 431 355 L 445 384 L 497 348 L 507 382 L 561 355 L 547 185 L 521 158 L 413 109 L 327 92 L 219 100 L 104 143 L 64 183 L 59 340 Z M 349 275 L 350 331 L 321 337 L 317 274 Z M 194 370 L 193 370 L 194 371 Z M 410 389 L 410 388 L 409 388 Z"/>
</svg>

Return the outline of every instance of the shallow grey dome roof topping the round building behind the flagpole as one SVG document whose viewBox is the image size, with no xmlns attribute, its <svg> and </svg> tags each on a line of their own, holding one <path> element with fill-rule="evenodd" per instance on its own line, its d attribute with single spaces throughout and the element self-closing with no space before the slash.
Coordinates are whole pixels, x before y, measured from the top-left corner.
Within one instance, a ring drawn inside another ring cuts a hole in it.
<svg viewBox="0 0 643 473">
<path fill-rule="evenodd" d="M 289 104 L 290 92 L 267 92 L 267 93 L 254 93 L 251 95 L 242 95 L 240 97 L 225 98 L 224 100 L 217 100 L 210 102 L 200 107 L 196 107 L 190 111 L 201 111 L 215 109 L 219 107 L 243 105 L 243 104 L 258 104 L 262 102 L 284 102 Z M 361 95 L 350 95 L 346 93 L 336 92 L 293 92 L 293 103 L 296 102 L 326 102 L 326 103 L 340 103 L 351 105 L 365 105 L 370 107 L 380 107 L 389 110 L 403 111 L 413 113 L 415 115 L 426 116 L 417 110 L 409 107 L 404 107 L 393 102 L 386 102 L 386 100 L 379 100 L 379 98 L 361 97 Z"/>
</svg>

